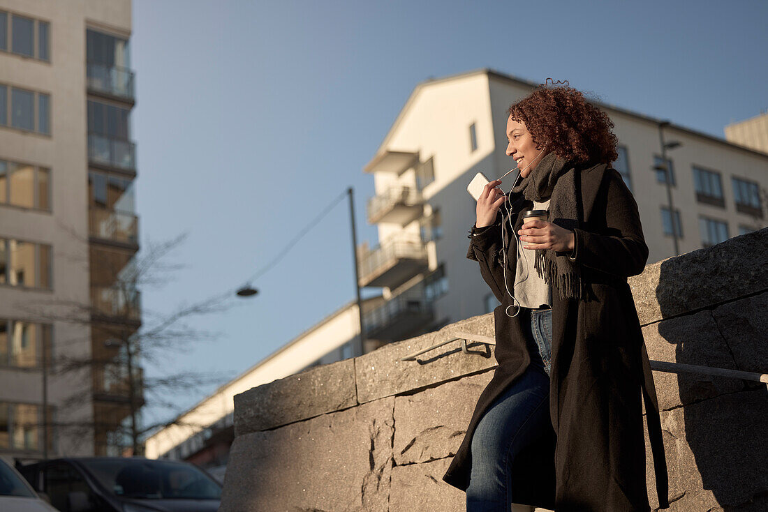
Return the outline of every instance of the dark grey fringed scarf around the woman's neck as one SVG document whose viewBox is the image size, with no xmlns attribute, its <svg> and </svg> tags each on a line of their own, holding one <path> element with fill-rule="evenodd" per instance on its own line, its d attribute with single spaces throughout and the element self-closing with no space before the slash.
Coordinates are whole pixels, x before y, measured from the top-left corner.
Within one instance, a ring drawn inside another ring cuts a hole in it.
<svg viewBox="0 0 768 512">
<path fill-rule="evenodd" d="M 548 222 L 572 231 L 581 226 L 581 212 L 576 204 L 576 174 L 572 164 L 551 152 L 511 192 L 522 193 L 525 199 L 538 202 L 549 197 Z M 561 299 L 583 300 L 588 296 L 581 269 L 568 256 L 557 256 L 552 249 L 538 249 L 535 267 L 544 282 L 558 289 Z"/>
</svg>

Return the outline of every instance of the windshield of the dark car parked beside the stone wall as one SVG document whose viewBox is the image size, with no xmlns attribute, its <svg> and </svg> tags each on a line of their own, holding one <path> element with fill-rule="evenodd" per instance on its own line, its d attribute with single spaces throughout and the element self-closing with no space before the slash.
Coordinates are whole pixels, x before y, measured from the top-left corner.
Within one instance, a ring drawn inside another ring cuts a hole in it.
<svg viewBox="0 0 768 512">
<path fill-rule="evenodd" d="M 81 461 L 118 496 L 147 500 L 220 500 L 221 487 L 191 464 L 146 459 Z"/>
</svg>

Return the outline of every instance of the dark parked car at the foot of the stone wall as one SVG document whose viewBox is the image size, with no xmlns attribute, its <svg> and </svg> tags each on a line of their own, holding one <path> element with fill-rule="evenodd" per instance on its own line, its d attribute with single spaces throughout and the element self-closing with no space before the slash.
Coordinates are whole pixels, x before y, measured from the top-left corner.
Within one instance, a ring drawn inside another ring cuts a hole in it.
<svg viewBox="0 0 768 512">
<path fill-rule="evenodd" d="M 20 472 L 61 512 L 214 512 L 221 486 L 193 464 L 143 457 L 70 457 Z"/>
</svg>

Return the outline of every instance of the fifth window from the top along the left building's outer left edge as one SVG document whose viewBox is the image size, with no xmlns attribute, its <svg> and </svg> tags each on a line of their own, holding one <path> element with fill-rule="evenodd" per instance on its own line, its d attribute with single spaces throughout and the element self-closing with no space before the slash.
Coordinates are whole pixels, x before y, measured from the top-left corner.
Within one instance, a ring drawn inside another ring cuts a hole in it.
<svg viewBox="0 0 768 512">
<path fill-rule="evenodd" d="M 41 368 L 45 346 L 51 361 L 51 325 L 0 319 L 0 367 Z"/>
</svg>

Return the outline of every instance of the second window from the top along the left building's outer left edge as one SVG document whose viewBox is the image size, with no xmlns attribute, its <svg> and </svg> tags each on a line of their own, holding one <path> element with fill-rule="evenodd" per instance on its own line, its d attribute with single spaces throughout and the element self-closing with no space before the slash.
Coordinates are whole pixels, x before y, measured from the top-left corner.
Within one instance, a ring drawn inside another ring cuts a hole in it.
<svg viewBox="0 0 768 512">
<path fill-rule="evenodd" d="M 10 122 L 10 126 L 18 130 L 48 135 L 51 133 L 50 104 L 48 94 L 0 84 L 0 125 L 8 126 Z"/>
</svg>

